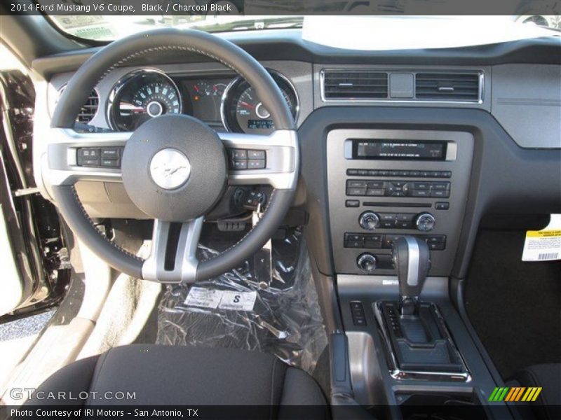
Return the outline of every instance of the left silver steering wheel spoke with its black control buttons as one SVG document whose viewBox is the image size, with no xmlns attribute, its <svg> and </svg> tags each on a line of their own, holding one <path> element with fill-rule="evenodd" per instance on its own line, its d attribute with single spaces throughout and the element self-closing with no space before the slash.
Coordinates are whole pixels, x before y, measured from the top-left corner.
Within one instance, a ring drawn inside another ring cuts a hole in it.
<svg viewBox="0 0 561 420">
<path fill-rule="evenodd" d="M 43 174 L 48 174 L 52 186 L 69 186 L 81 180 L 121 181 L 119 153 L 131 134 L 50 128 L 48 153 L 41 162 Z M 116 154 L 106 158 L 103 149 L 116 151 Z"/>
</svg>

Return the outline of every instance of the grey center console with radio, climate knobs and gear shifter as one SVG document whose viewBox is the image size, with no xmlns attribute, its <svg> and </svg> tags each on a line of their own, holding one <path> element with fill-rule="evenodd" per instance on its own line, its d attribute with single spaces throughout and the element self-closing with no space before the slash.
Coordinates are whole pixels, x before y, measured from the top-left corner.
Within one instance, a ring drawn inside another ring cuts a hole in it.
<svg viewBox="0 0 561 420">
<path fill-rule="evenodd" d="M 331 246 L 353 397 L 374 410 L 385 407 L 393 419 L 493 418 L 487 407 L 496 384 L 448 289 L 473 135 L 336 129 L 326 141 Z M 503 405 L 494 413 L 508 418 Z"/>
</svg>

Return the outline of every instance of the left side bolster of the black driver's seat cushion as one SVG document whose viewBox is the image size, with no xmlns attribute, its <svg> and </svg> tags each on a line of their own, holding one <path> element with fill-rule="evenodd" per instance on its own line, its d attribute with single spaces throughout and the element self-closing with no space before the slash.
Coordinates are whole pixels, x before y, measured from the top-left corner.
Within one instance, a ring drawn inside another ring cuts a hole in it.
<svg viewBox="0 0 561 420">
<path fill-rule="evenodd" d="M 99 358 L 83 358 L 58 370 L 36 389 L 25 405 L 86 405 L 86 394 L 80 393 L 90 391 Z M 66 393 L 65 398 L 59 398 L 60 393 Z"/>
</svg>

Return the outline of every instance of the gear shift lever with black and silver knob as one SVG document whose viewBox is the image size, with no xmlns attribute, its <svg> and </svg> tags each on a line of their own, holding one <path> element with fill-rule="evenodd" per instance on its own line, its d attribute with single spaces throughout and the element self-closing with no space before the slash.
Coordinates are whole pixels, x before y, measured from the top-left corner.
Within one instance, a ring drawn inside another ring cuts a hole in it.
<svg viewBox="0 0 561 420">
<path fill-rule="evenodd" d="M 431 268 L 431 251 L 422 239 L 406 235 L 393 241 L 392 259 L 398 272 L 401 316 L 413 316 Z"/>
</svg>

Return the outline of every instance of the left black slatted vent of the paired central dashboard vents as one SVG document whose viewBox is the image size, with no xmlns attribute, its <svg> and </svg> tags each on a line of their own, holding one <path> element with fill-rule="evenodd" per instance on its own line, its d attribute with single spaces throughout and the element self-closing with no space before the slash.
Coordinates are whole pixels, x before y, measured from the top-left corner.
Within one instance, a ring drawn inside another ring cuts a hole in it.
<svg viewBox="0 0 561 420">
<path fill-rule="evenodd" d="M 325 99 L 380 99 L 388 97 L 388 73 L 372 71 L 325 71 Z"/>
</svg>

